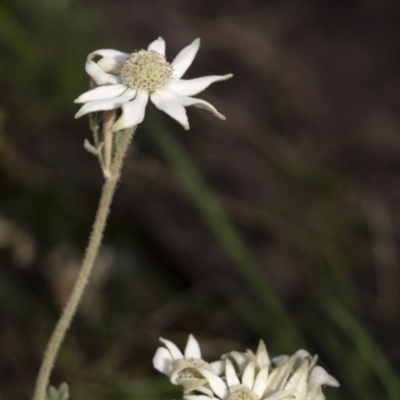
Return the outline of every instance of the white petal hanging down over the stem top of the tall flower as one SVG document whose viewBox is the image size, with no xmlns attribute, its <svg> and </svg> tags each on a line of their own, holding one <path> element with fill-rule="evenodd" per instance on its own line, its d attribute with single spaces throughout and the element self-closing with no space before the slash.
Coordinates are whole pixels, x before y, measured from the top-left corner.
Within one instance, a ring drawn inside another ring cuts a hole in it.
<svg viewBox="0 0 400 400">
<path fill-rule="evenodd" d="M 121 131 L 122 129 L 132 128 L 133 126 L 139 125 L 144 120 L 148 99 L 149 99 L 149 94 L 147 92 L 145 92 L 144 90 L 138 90 L 136 97 L 132 101 L 122 104 L 122 115 L 118 119 L 118 121 L 113 125 L 112 128 L 113 131 L 114 132 Z M 171 351 L 170 347 L 169 346 L 167 347 L 168 350 Z M 178 348 L 176 347 L 176 349 Z M 182 353 L 179 351 L 179 354 Z M 174 354 L 172 354 L 172 357 L 176 359 L 174 357 Z"/>
</svg>

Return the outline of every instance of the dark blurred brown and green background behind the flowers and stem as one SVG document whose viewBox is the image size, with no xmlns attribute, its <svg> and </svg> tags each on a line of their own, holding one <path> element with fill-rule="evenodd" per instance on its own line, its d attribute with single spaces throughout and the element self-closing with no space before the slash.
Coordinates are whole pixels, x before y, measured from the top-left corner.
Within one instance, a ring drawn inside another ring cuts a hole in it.
<svg viewBox="0 0 400 400">
<path fill-rule="evenodd" d="M 86 55 L 196 37 L 185 78 L 233 73 L 183 129 L 149 105 L 52 382 L 71 399 L 179 398 L 163 336 L 204 357 L 307 348 L 328 399 L 400 398 L 399 3 L 0 3 L 0 398 L 29 398 L 102 184 L 83 149 Z"/>
</svg>

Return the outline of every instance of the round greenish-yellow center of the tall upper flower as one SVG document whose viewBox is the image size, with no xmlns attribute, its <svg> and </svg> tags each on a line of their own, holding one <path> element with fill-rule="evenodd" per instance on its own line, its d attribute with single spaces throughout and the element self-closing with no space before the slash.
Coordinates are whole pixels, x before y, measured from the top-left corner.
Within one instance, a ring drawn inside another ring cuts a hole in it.
<svg viewBox="0 0 400 400">
<path fill-rule="evenodd" d="M 154 50 L 132 53 L 121 67 L 122 83 L 131 89 L 142 89 L 149 94 L 166 86 L 174 69 L 165 57 Z"/>
</svg>

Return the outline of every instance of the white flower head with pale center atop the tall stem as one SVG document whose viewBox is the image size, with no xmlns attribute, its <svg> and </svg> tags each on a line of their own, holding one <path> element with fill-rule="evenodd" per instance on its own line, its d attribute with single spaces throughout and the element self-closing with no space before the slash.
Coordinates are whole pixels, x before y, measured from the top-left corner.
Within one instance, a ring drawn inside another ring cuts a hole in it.
<svg viewBox="0 0 400 400">
<path fill-rule="evenodd" d="M 113 126 L 114 131 L 130 128 L 144 119 L 147 101 L 189 129 L 185 107 L 204 108 L 216 117 L 225 119 L 210 103 L 192 96 L 217 81 L 233 75 L 212 75 L 196 79 L 181 79 L 192 64 L 200 39 L 183 48 L 172 63 L 165 59 L 164 39 L 150 43 L 147 50 L 132 54 L 117 50 L 97 50 L 88 55 L 86 72 L 97 87 L 79 96 L 75 102 L 84 103 L 75 115 L 94 111 L 122 108 L 122 115 Z M 95 62 L 95 57 L 101 57 Z"/>
</svg>

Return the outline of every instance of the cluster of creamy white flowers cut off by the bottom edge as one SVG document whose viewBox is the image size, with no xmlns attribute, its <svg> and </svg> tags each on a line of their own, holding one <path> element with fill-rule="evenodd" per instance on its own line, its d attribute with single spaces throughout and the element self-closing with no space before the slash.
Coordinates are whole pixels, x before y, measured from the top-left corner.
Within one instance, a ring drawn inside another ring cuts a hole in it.
<svg viewBox="0 0 400 400">
<path fill-rule="evenodd" d="M 270 359 L 261 340 L 256 353 L 232 351 L 208 363 L 192 335 L 184 354 L 160 340 L 165 347 L 157 349 L 154 368 L 183 387 L 184 400 L 324 400 L 323 385 L 339 386 L 306 350 Z"/>
</svg>

